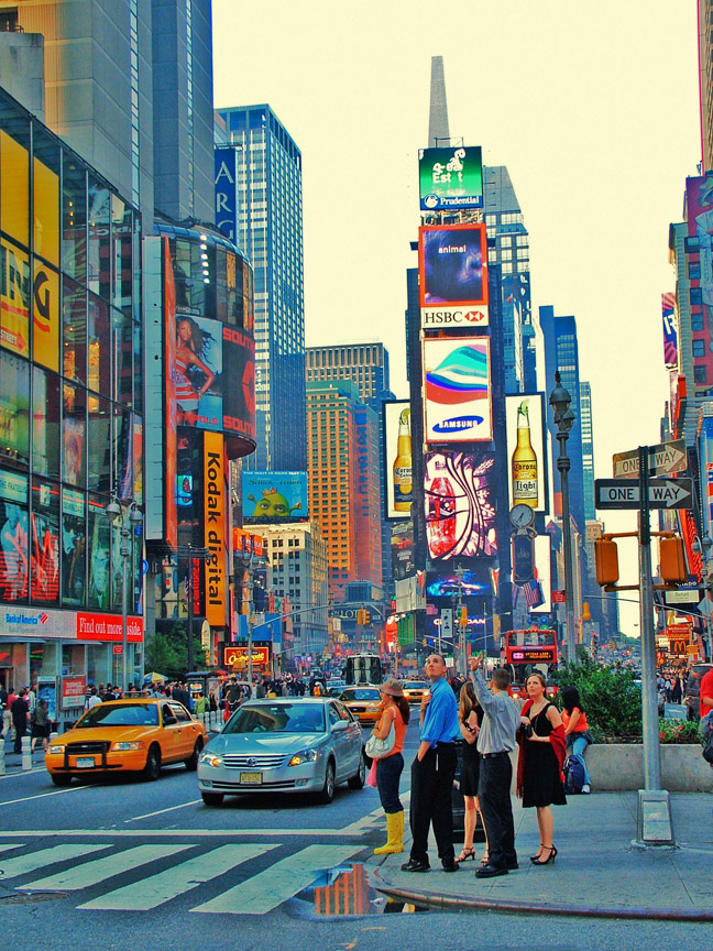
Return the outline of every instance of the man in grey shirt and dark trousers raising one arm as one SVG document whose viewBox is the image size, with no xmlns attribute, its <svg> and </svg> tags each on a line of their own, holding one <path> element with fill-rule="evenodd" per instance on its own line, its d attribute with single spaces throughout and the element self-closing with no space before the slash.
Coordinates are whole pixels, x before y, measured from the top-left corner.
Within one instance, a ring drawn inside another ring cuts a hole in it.
<svg viewBox="0 0 713 951">
<path fill-rule="evenodd" d="M 478 735 L 478 752 L 481 754 L 478 801 L 487 835 L 487 864 L 481 865 L 475 876 L 492 878 L 517 868 L 509 754 L 515 748 L 515 732 L 520 720 L 517 707 L 507 695 L 508 671 L 503 667 L 493 670 L 489 690 L 480 670 L 481 663 L 480 654 L 470 659 L 471 680 L 484 713 Z"/>
</svg>

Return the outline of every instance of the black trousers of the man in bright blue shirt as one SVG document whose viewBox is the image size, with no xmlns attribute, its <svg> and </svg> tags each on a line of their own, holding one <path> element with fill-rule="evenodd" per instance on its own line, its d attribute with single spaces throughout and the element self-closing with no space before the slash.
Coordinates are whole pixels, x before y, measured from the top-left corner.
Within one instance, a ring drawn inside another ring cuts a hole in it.
<svg viewBox="0 0 713 951">
<path fill-rule="evenodd" d="M 414 841 L 410 857 L 415 862 L 428 863 L 428 830 L 434 826 L 434 835 L 441 862 L 452 862 L 453 810 L 451 797 L 456 775 L 456 746 L 439 743 L 429 750 L 421 762 L 418 757 L 412 765 L 410 830 Z"/>
</svg>

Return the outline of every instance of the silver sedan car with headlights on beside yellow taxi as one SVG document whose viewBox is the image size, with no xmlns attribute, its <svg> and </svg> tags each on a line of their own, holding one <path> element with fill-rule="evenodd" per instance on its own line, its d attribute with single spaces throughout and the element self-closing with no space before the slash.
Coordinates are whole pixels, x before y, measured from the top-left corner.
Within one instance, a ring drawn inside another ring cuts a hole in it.
<svg viewBox="0 0 713 951">
<path fill-rule="evenodd" d="M 242 792 L 317 792 L 331 802 L 334 787 L 364 785 L 361 726 L 328 697 L 246 700 L 198 759 L 207 806 Z"/>
</svg>

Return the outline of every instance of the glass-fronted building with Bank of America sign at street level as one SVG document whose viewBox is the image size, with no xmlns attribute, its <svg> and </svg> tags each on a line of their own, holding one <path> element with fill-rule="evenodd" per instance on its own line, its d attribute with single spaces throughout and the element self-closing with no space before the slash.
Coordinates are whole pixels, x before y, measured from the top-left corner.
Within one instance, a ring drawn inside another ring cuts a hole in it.
<svg viewBox="0 0 713 951">
<path fill-rule="evenodd" d="M 140 238 L 136 209 L 0 89 L 0 680 L 55 678 L 58 715 L 81 678 L 121 679 L 106 506 L 143 505 Z M 142 550 L 138 527 L 131 675 Z"/>
</svg>

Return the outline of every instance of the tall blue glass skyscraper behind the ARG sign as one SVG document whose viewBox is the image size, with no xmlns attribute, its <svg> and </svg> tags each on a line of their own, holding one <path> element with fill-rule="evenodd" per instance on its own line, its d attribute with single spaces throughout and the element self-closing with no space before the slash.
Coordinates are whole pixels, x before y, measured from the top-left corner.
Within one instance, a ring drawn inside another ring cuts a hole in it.
<svg viewBox="0 0 713 951">
<path fill-rule="evenodd" d="M 237 243 L 255 273 L 251 469 L 305 471 L 301 153 L 270 106 L 219 109 L 237 147 Z"/>
</svg>

